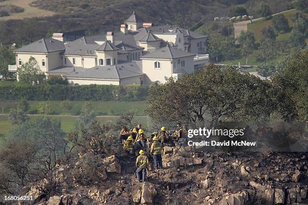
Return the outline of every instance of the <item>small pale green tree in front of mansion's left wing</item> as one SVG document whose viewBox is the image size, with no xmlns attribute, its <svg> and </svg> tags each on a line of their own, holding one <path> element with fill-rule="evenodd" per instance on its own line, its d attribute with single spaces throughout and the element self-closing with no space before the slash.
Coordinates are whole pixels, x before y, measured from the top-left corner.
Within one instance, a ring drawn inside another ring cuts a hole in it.
<svg viewBox="0 0 308 205">
<path fill-rule="evenodd" d="M 32 56 L 28 62 L 17 68 L 17 75 L 20 83 L 39 84 L 45 80 L 44 72 Z"/>
</svg>

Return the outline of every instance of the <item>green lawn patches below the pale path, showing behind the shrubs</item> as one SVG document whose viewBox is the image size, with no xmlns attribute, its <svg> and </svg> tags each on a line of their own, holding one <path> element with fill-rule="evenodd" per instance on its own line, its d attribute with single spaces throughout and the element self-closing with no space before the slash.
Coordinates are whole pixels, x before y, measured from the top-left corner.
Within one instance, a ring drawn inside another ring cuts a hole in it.
<svg viewBox="0 0 308 205">
<path fill-rule="evenodd" d="M 36 120 L 39 117 L 37 116 L 31 116 L 30 120 Z M 77 117 L 57 117 L 52 116 L 48 117 L 51 119 L 59 119 L 61 120 L 61 128 L 65 133 L 69 133 L 74 130 L 75 128 L 75 122 L 78 119 Z M 102 124 L 107 123 L 108 121 L 115 122 L 117 117 L 100 117 L 97 118 L 98 121 L 100 121 Z M 143 116 L 136 116 L 133 120 L 133 122 L 137 123 L 140 122 L 145 127 L 148 127 L 148 118 Z M 0 116 L 0 141 L 2 138 L 5 138 L 8 136 L 10 129 L 12 129 L 13 126 L 8 122 L 8 116 Z"/>
</svg>

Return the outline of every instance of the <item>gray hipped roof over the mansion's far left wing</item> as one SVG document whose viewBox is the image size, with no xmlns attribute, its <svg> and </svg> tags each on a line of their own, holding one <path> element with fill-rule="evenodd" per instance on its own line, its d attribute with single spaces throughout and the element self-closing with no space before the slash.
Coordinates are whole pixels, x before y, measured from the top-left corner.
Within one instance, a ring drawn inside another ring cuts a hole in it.
<svg viewBox="0 0 308 205">
<path fill-rule="evenodd" d="M 53 51 L 61 51 L 64 49 L 64 43 L 62 41 L 52 38 L 42 38 L 22 48 L 16 49 L 15 52 L 48 53 Z"/>
</svg>

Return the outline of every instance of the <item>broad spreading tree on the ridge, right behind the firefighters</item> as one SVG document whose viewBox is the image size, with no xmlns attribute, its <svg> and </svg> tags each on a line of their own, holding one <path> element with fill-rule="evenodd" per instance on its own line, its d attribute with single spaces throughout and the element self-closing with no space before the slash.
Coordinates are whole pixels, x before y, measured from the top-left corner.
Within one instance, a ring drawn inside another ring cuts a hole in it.
<svg viewBox="0 0 308 205">
<path fill-rule="evenodd" d="M 223 118 L 268 118 L 274 109 L 268 87 L 267 81 L 255 76 L 243 75 L 234 68 L 221 71 L 210 64 L 181 79 L 152 85 L 145 112 L 156 124 L 180 121 L 192 127 L 205 121 L 216 124 Z M 205 118 L 205 114 L 210 117 Z"/>
</svg>

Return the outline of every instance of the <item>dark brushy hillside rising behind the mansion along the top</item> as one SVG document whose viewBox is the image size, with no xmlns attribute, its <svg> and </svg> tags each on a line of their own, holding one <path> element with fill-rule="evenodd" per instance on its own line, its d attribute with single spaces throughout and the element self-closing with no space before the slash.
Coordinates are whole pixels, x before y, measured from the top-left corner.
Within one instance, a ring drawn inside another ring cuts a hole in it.
<svg viewBox="0 0 308 205">
<path fill-rule="evenodd" d="M 13 1 L 13 0 L 12 0 Z M 15 0 L 17 1 L 17 0 Z M 135 10 L 145 21 L 153 23 L 177 24 L 185 28 L 193 27 L 202 20 L 206 23 L 214 17 L 222 17 L 230 7 L 244 5 L 248 11 L 256 15 L 261 0 L 233 1 L 48 1 L 39 0 L 31 6 L 56 12 L 56 15 L 25 20 L 9 20 L 0 22 L 0 39 L 3 44 L 13 42 L 22 44 L 35 41 L 46 36 L 48 31 L 67 32 L 74 30 L 97 29 L 96 32 L 119 30 L 119 25 Z M 273 12 L 287 9 L 290 0 L 271 1 Z M 274 6 L 278 5 L 278 6 Z M 46 13 L 47 14 L 47 13 Z M 33 17 L 33 16 L 29 16 Z M 23 31 L 23 32 L 20 32 Z"/>
</svg>

